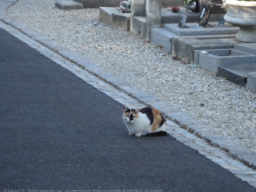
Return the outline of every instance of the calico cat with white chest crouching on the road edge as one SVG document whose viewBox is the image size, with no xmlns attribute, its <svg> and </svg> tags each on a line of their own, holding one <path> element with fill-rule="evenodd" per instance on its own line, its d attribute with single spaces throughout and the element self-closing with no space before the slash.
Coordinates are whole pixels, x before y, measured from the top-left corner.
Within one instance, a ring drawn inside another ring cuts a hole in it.
<svg viewBox="0 0 256 192">
<path fill-rule="evenodd" d="M 161 112 L 153 107 L 130 109 L 123 107 L 123 120 L 128 128 L 129 135 L 165 136 L 166 120 Z"/>
</svg>

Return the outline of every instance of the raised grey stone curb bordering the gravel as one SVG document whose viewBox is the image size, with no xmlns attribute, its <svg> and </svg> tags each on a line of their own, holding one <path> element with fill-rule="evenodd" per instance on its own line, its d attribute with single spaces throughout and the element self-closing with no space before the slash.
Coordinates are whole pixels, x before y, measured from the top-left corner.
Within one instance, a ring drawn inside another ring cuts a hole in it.
<svg viewBox="0 0 256 192">
<path fill-rule="evenodd" d="M 5 10 L 17 1 L 18 0 L 0 0 L 1 21 L 18 29 L 36 42 L 53 50 L 57 54 L 80 66 L 82 69 L 85 69 L 89 73 L 92 73 L 106 83 L 109 83 L 115 88 L 127 93 L 130 97 L 133 97 L 142 104 L 156 107 L 166 116 L 166 118 L 174 121 L 183 129 L 186 129 L 190 133 L 194 133 L 195 135 L 197 135 L 197 137 L 206 140 L 212 146 L 219 147 L 220 149 L 227 152 L 232 158 L 238 159 L 242 163 L 256 170 L 256 152 L 250 150 L 249 147 L 240 145 L 237 142 L 232 141 L 230 138 L 225 137 L 220 131 L 215 130 L 213 127 L 205 125 L 204 123 L 201 123 L 200 121 L 196 120 L 195 118 L 184 112 L 180 112 L 177 109 L 168 107 L 168 104 L 164 103 L 160 99 L 155 98 L 153 95 L 149 95 L 148 93 L 137 88 L 136 86 L 130 85 L 128 82 L 122 80 L 121 78 L 118 78 L 114 74 L 107 72 L 103 67 L 94 65 L 88 59 L 76 55 L 74 52 L 64 48 L 61 44 L 54 43 L 46 36 L 31 31 L 23 24 L 7 17 Z"/>
</svg>

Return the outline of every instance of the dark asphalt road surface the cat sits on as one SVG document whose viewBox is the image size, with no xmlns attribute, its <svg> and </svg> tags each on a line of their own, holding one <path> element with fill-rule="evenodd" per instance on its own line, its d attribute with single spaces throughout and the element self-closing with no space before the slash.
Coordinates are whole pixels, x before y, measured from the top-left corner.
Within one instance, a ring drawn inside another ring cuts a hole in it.
<svg viewBox="0 0 256 192">
<path fill-rule="evenodd" d="M 0 191 L 256 191 L 171 136 L 129 136 L 121 116 L 120 103 L 0 28 Z"/>
</svg>

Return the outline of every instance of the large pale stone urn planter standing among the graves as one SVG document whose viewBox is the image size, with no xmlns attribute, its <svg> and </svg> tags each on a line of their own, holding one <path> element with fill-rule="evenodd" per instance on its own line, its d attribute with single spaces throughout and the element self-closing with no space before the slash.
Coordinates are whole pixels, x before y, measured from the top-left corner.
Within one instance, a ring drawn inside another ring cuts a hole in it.
<svg viewBox="0 0 256 192">
<path fill-rule="evenodd" d="M 256 42 L 256 1 L 223 0 L 223 3 L 228 8 L 225 21 L 240 28 L 235 38 L 243 42 Z"/>
</svg>

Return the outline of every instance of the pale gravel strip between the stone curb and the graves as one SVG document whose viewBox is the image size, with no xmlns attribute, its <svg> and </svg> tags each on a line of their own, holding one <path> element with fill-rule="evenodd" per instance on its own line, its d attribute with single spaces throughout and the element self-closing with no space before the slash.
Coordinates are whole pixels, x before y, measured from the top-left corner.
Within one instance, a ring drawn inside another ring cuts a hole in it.
<svg viewBox="0 0 256 192">
<path fill-rule="evenodd" d="M 255 93 L 100 23 L 99 9 L 66 11 L 54 3 L 19 0 L 7 15 L 256 151 Z"/>
</svg>

